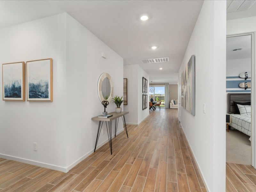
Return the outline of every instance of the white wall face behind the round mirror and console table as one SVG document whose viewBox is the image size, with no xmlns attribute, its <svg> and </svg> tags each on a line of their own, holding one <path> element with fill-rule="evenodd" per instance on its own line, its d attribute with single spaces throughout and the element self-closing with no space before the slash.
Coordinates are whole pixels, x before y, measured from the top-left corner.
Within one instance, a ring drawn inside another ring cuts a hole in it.
<svg viewBox="0 0 256 192">
<path fill-rule="evenodd" d="M 101 57 L 101 52 L 106 53 L 107 59 Z M 97 92 L 100 75 L 109 73 L 113 96 L 123 95 L 123 58 L 68 14 L 67 53 L 67 165 L 70 165 L 94 149 L 99 122 L 91 118 L 104 111 Z M 109 102 L 106 110 L 110 113 L 115 108 Z M 105 126 L 102 128 L 106 129 Z M 117 132 L 122 127 L 121 120 Z M 108 140 L 106 130 L 105 135 L 102 133 L 98 146 Z"/>
</svg>

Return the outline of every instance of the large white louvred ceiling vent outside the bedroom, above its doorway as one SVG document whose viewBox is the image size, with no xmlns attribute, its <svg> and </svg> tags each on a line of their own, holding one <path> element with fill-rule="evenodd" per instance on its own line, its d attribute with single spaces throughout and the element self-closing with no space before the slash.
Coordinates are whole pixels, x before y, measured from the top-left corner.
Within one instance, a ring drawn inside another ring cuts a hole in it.
<svg viewBox="0 0 256 192">
<path fill-rule="evenodd" d="M 248 10 L 255 2 L 256 0 L 232 0 L 232 2 L 228 5 L 227 13 Z"/>
</svg>

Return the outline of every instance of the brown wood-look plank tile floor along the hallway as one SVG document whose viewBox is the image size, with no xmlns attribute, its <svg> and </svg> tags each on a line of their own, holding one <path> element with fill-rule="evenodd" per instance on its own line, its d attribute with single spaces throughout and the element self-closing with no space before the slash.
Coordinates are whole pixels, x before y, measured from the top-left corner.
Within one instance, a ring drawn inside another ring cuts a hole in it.
<svg viewBox="0 0 256 192">
<path fill-rule="evenodd" d="M 106 143 L 68 173 L 0 158 L 0 191 L 206 191 L 177 109 L 156 109 L 139 126 L 127 128 L 129 139 L 125 132 L 113 139 L 113 155 Z M 227 166 L 228 190 L 253 189 L 254 170 L 235 166 Z"/>
</svg>

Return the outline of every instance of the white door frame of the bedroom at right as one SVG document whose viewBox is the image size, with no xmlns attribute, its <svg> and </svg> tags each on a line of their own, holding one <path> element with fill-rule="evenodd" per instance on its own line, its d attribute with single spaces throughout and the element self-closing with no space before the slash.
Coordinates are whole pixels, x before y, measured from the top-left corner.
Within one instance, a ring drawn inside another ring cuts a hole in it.
<svg viewBox="0 0 256 192">
<path fill-rule="evenodd" d="M 227 35 L 228 37 L 251 36 L 251 165 L 256 168 L 256 66 L 255 66 L 255 35 L 256 32 L 238 33 Z"/>
</svg>

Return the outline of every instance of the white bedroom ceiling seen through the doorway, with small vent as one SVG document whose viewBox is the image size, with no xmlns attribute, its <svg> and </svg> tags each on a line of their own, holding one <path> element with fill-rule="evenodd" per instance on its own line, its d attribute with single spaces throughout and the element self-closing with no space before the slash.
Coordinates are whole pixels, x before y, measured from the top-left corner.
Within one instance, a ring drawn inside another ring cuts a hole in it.
<svg viewBox="0 0 256 192">
<path fill-rule="evenodd" d="M 241 51 L 231 51 L 233 49 L 243 48 Z M 227 60 L 245 59 L 251 57 L 251 36 L 238 36 L 227 38 Z"/>
</svg>

